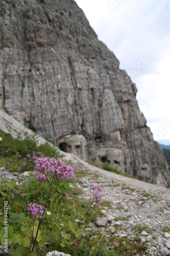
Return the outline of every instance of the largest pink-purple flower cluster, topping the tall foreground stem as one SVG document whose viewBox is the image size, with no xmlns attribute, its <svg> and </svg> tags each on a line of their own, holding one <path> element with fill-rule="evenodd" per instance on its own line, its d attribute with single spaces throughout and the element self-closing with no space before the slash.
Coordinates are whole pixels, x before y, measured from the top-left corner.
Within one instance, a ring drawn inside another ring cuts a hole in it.
<svg viewBox="0 0 170 256">
<path fill-rule="evenodd" d="M 41 157 L 34 160 L 36 179 L 40 182 L 47 180 L 46 175 L 52 173 L 55 180 L 61 181 L 63 178 L 69 180 L 75 178 L 74 168 L 70 165 L 66 165 L 60 158 Z"/>
</svg>

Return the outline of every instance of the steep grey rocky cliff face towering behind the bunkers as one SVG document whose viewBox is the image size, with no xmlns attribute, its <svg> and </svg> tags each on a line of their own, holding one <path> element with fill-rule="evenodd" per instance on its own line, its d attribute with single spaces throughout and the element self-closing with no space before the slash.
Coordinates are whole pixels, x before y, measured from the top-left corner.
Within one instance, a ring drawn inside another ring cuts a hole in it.
<svg viewBox="0 0 170 256">
<path fill-rule="evenodd" d="M 170 183 L 162 150 L 138 108 L 135 84 L 77 4 L 1 0 L 0 8 L 0 86 L 8 112 L 54 143 L 83 135 L 89 159 L 116 148 L 125 172 Z"/>
</svg>

